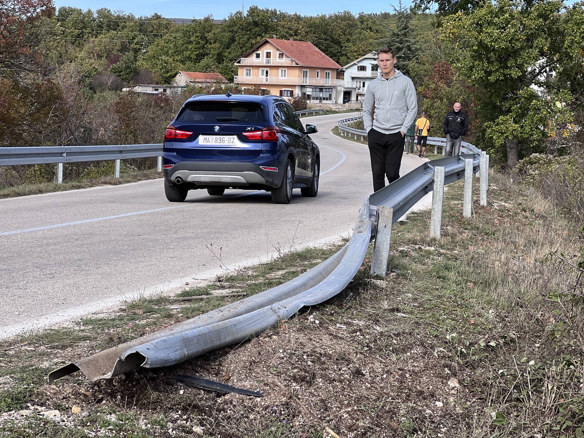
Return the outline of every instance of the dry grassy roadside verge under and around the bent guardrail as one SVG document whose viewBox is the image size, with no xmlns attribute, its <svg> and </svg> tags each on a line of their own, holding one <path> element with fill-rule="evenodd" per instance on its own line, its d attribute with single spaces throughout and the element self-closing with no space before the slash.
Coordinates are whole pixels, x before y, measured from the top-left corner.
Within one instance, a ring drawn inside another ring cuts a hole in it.
<svg viewBox="0 0 584 438">
<path fill-rule="evenodd" d="M 490 182 L 489 206 L 475 204 L 470 219 L 462 182 L 449 186 L 440 241 L 428 238 L 428 211 L 395 224 L 387 279 L 369 278 L 369 253 L 345 291 L 241 345 L 96 384 L 43 377 L 234 297 L 143 297 L 109 317 L 2 343 L 0 429 L 31 437 L 321 437 L 325 426 L 342 437 L 582 436 L 582 231 L 538 193 L 496 173 Z M 180 295 L 253 294 L 334 251 L 288 253 Z M 218 396 L 176 384 L 177 373 L 265 395 Z M 55 409 L 60 416 L 42 413 Z"/>
</svg>

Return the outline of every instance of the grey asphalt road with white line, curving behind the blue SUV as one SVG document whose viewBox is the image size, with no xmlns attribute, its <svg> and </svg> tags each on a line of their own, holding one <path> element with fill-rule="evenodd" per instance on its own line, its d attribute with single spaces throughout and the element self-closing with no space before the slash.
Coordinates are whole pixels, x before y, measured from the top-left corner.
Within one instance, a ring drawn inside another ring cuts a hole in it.
<svg viewBox="0 0 584 438">
<path fill-rule="evenodd" d="M 316 198 L 192 190 L 169 203 L 162 179 L 0 200 L 0 338 L 193 284 L 276 249 L 347 236 L 373 192 L 369 150 L 330 131 L 356 114 L 307 117 L 321 148 Z M 401 174 L 422 164 L 404 155 Z M 211 251 L 212 245 L 212 251 Z M 217 259 L 221 259 L 220 261 Z"/>
</svg>

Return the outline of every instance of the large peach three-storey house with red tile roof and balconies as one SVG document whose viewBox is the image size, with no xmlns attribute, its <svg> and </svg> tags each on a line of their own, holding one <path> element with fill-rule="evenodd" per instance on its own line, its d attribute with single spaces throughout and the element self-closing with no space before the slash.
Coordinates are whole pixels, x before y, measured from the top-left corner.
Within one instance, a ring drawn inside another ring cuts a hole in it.
<svg viewBox="0 0 584 438">
<path fill-rule="evenodd" d="M 273 95 L 305 96 L 309 102 L 336 103 L 343 81 L 337 79 L 339 64 L 308 41 L 268 38 L 239 58 L 235 84 L 259 85 Z M 341 93 L 342 95 L 342 93 Z"/>
</svg>

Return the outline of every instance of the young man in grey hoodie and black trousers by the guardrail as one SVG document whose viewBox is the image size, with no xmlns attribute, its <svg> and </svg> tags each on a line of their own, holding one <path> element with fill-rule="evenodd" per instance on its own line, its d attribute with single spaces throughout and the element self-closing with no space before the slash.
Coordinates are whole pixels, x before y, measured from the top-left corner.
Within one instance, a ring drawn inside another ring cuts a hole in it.
<svg viewBox="0 0 584 438">
<path fill-rule="evenodd" d="M 385 176 L 390 184 L 399 178 L 404 135 L 418 113 L 416 88 L 412 79 L 394 68 L 396 61 L 393 49 L 384 46 L 377 51 L 381 74 L 369 82 L 363 99 L 375 192 L 385 187 Z"/>
</svg>

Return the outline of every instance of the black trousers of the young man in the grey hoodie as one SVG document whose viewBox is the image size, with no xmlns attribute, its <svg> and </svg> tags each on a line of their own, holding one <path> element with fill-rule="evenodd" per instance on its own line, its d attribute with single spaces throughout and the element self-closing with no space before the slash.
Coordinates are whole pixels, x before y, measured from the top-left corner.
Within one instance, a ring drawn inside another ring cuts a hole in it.
<svg viewBox="0 0 584 438">
<path fill-rule="evenodd" d="M 385 176 L 391 184 L 399 178 L 399 166 L 404 154 L 404 137 L 401 132 L 383 134 L 371 128 L 367 133 L 371 171 L 373 172 L 373 191 L 385 187 Z"/>
</svg>

